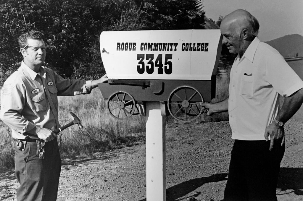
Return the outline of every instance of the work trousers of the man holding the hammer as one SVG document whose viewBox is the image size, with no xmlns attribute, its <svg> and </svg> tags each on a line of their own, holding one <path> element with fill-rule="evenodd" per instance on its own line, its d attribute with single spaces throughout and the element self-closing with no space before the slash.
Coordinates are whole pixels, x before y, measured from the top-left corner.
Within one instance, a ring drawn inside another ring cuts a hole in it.
<svg viewBox="0 0 303 201">
<path fill-rule="evenodd" d="M 36 154 L 36 142 L 27 142 L 25 150 L 15 147 L 15 173 L 20 187 L 18 201 L 57 200 L 61 158 L 57 139 L 45 143 L 45 158 Z"/>
</svg>

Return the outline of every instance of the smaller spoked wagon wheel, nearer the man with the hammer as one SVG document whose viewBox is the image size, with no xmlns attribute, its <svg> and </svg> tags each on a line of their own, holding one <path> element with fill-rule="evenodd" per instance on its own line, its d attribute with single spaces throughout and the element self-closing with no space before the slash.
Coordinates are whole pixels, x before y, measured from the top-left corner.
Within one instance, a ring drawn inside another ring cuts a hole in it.
<svg viewBox="0 0 303 201">
<path fill-rule="evenodd" d="M 131 117 L 136 110 L 136 101 L 131 94 L 125 91 L 117 91 L 107 100 L 109 113 L 118 119 Z"/>
</svg>

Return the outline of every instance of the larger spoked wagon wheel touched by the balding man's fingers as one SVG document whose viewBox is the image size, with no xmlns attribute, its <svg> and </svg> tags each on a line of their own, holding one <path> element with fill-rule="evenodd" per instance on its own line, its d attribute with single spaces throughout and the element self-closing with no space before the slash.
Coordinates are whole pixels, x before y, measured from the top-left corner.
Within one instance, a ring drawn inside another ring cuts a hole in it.
<svg viewBox="0 0 303 201">
<path fill-rule="evenodd" d="M 193 101 L 195 100 L 195 101 Z M 204 103 L 200 92 L 191 86 L 179 86 L 168 97 L 168 111 L 172 117 L 183 122 L 190 122 L 198 118 L 203 112 Z"/>
</svg>

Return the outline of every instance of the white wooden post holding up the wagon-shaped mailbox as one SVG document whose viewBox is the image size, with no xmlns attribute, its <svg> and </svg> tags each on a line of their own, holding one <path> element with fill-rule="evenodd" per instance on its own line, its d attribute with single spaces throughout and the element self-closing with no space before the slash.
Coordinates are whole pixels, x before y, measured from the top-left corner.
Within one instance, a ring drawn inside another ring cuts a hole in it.
<svg viewBox="0 0 303 201">
<path fill-rule="evenodd" d="M 146 201 L 166 200 L 166 117 L 163 107 L 165 110 L 159 101 L 146 102 Z"/>
</svg>

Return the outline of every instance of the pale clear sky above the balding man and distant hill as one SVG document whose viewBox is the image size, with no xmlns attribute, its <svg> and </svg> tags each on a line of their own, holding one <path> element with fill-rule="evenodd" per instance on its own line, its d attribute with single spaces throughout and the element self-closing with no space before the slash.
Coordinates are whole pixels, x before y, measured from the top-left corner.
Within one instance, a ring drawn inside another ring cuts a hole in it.
<svg viewBox="0 0 303 201">
<path fill-rule="evenodd" d="M 205 15 L 217 21 L 234 10 L 244 9 L 260 24 L 258 37 L 270 41 L 290 34 L 303 35 L 303 0 L 200 0 Z"/>
</svg>

